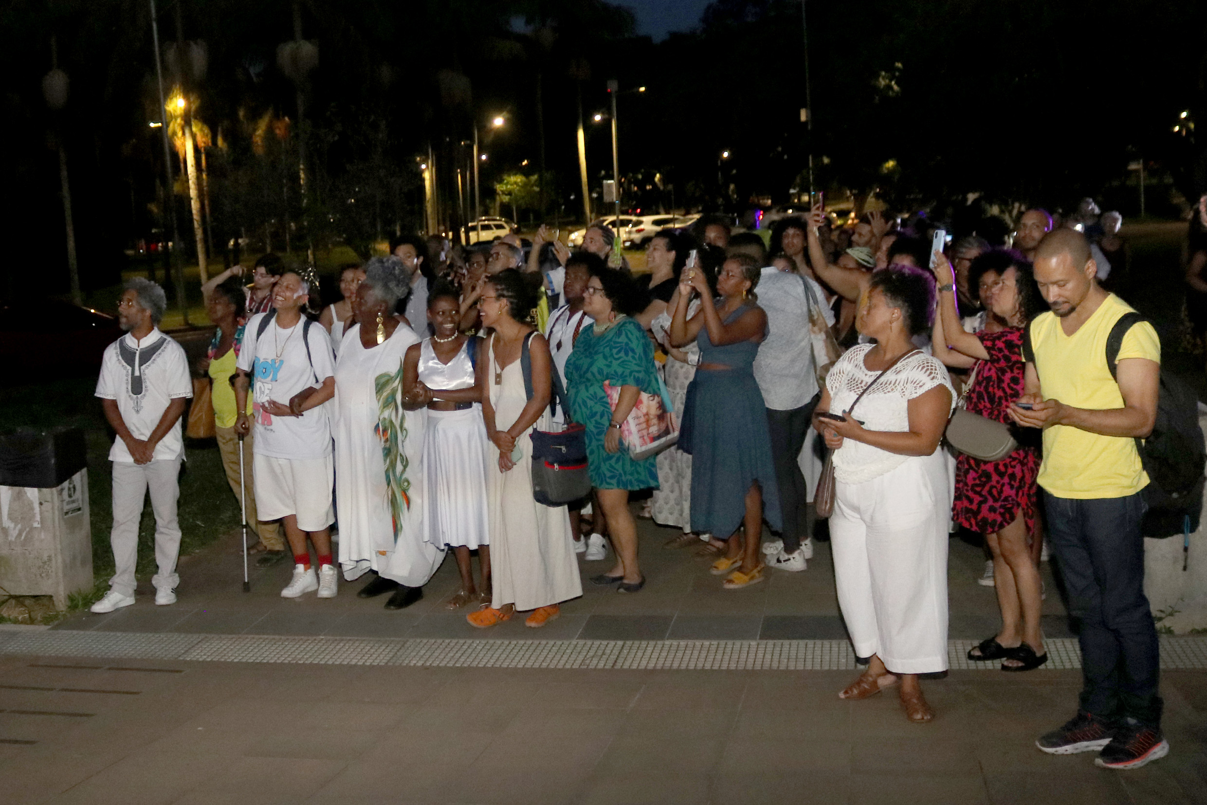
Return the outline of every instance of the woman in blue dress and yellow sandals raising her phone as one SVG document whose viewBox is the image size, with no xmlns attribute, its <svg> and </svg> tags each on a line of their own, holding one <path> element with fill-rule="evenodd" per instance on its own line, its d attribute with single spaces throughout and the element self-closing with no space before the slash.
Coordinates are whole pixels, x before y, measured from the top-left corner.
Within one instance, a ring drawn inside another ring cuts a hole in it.
<svg viewBox="0 0 1207 805">
<path fill-rule="evenodd" d="M 763 581 L 763 518 L 772 530 L 781 527 L 766 406 L 751 369 L 766 337 L 766 314 L 754 294 L 760 273 L 753 257 L 730 257 L 713 301 L 704 272 L 686 270 L 669 333 L 674 346 L 694 340 L 700 348 L 678 447 L 692 454 L 692 530 L 722 539 L 731 535 L 725 555 L 712 565 L 715 576 L 727 576 L 725 589 Z M 688 319 L 693 293 L 700 310 Z"/>
</svg>

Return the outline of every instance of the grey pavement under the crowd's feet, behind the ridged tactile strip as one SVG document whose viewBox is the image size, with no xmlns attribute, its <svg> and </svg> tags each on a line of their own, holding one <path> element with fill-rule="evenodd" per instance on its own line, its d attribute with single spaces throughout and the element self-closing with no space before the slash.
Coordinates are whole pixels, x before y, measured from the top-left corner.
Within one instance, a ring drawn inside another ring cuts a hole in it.
<svg viewBox="0 0 1207 805">
<path fill-rule="evenodd" d="M 80 613 L 56 629 L 465 640 L 846 640 L 828 542 L 815 542 L 809 568 L 800 573 L 769 568 L 760 584 L 724 590 L 723 579 L 709 573 L 711 559 L 694 556 L 694 547 L 661 547 L 676 530 L 639 519 L 637 533 L 645 589 L 618 595 L 614 587 L 590 584 L 589 576 L 611 570 L 613 556 L 610 552 L 605 561 L 587 562 L 579 554 L 583 596 L 562 603 L 561 617 L 543 629 L 526 629 L 523 618 L 514 618 L 479 630 L 466 623 L 467 609 L 445 609 L 444 602 L 459 588 L 451 556 L 424 588 L 422 601 L 398 612 L 383 608 L 385 596 L 356 597 L 372 576 L 340 581 L 336 599 L 319 600 L 313 594 L 282 599 L 280 591 L 293 570 L 288 559 L 269 568 L 251 562 L 251 593 L 245 594 L 238 531 L 181 560 L 174 606 L 154 606 L 150 582 L 142 579 L 134 606 L 104 616 Z M 985 566 L 981 548 L 961 538 L 949 544 L 950 637 L 990 637 L 999 619 L 993 588 L 976 584 Z M 1043 578 L 1048 588 L 1044 634 L 1072 637 L 1048 565 Z"/>
</svg>

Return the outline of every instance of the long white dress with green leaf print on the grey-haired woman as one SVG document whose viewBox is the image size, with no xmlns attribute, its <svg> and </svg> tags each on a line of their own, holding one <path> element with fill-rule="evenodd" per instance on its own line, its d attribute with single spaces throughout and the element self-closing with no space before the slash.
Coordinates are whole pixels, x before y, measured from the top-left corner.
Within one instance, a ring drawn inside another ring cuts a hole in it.
<svg viewBox="0 0 1207 805">
<path fill-rule="evenodd" d="M 384 343 L 365 349 L 360 325 L 349 327 L 336 361 L 333 432 L 336 437 L 336 498 L 339 511 L 339 565 L 352 581 L 369 570 L 407 587 L 422 587 L 432 577 L 444 552 L 424 539 L 422 471 L 427 412 L 387 407 L 387 421 L 401 442 L 395 484 L 387 484 L 383 439 L 378 434 L 383 406 L 378 378 L 396 390 L 401 401 L 402 358 L 419 342 L 400 323 Z M 391 508 L 391 489 L 398 521 Z"/>
</svg>

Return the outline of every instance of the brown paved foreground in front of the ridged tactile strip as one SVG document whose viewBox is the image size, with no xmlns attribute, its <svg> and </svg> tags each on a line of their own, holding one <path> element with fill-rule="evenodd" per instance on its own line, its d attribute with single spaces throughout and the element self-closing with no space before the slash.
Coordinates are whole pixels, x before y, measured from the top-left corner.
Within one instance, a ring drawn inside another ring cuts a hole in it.
<svg viewBox="0 0 1207 805">
<path fill-rule="evenodd" d="M 0 803 L 1207 803 L 1202 671 L 1164 675 L 1172 751 L 1125 772 L 1033 746 L 1077 671 L 954 671 L 926 725 L 840 701 L 853 673 L 0 655 Z"/>
</svg>

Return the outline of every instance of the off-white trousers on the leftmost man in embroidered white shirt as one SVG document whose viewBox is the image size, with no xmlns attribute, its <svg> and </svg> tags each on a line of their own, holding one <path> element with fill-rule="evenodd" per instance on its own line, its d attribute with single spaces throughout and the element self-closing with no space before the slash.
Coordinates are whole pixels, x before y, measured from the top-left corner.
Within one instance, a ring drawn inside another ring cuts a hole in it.
<svg viewBox="0 0 1207 805">
<path fill-rule="evenodd" d="M 122 595 L 134 595 L 134 567 L 139 559 L 139 521 L 142 503 L 151 492 L 154 512 L 154 559 L 159 572 L 151 578 L 156 589 L 175 589 L 176 559 L 180 556 L 180 523 L 176 501 L 180 500 L 181 459 L 148 461 L 113 461 L 113 529 L 109 544 L 113 549 L 117 572 L 109 579 L 111 589 Z"/>
</svg>

